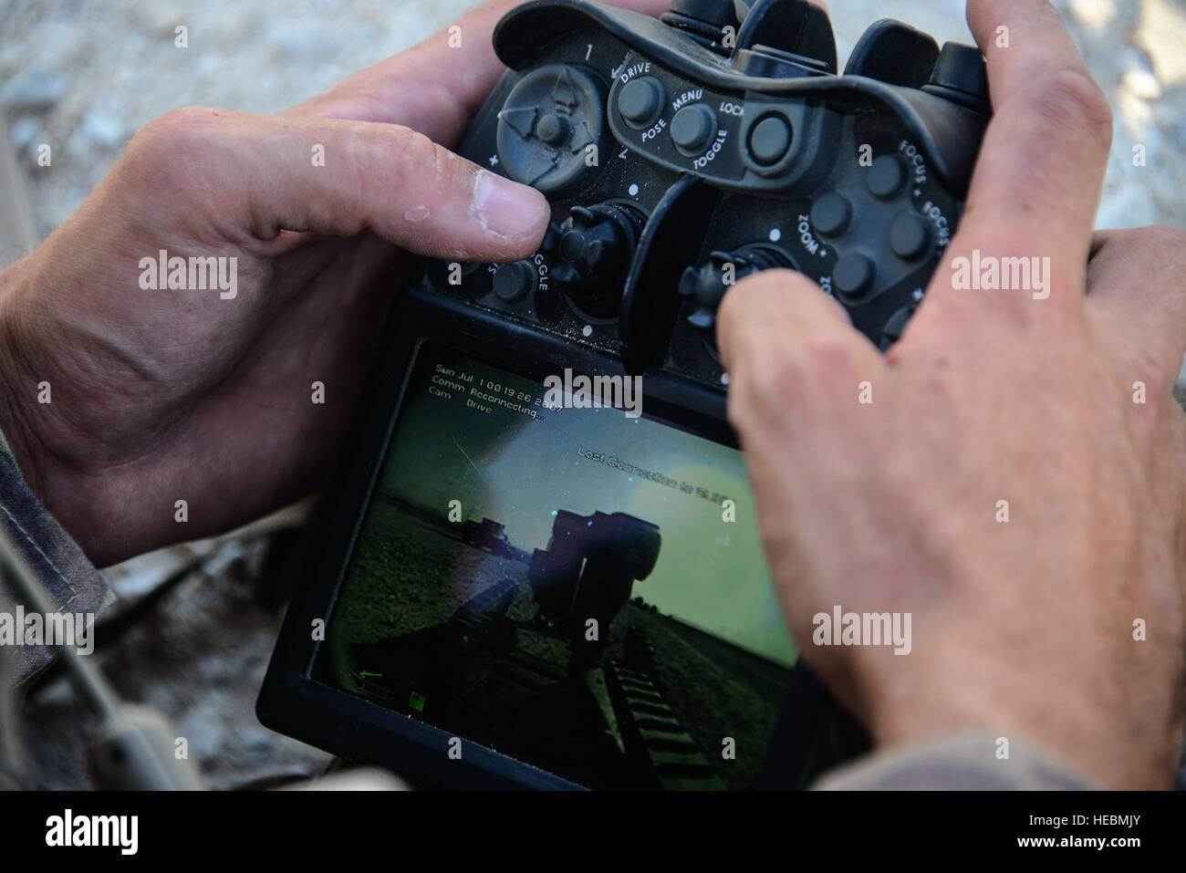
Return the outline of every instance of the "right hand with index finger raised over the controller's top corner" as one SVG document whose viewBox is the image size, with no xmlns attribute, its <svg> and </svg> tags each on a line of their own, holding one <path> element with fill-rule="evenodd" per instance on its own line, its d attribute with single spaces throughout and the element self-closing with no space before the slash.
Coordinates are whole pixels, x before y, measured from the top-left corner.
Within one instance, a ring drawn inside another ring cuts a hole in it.
<svg viewBox="0 0 1186 873">
<path fill-rule="evenodd" d="M 802 276 L 740 282 L 719 331 L 729 415 L 795 638 L 879 745 L 990 728 L 1102 785 L 1163 788 L 1182 738 L 1186 237 L 1092 240 L 1111 117 L 1063 23 L 1034 0 L 968 18 L 996 114 L 924 305 L 882 357 Z M 974 250 L 1048 257 L 1048 298 L 956 289 Z M 836 605 L 912 613 L 911 654 L 816 646 Z"/>
</svg>

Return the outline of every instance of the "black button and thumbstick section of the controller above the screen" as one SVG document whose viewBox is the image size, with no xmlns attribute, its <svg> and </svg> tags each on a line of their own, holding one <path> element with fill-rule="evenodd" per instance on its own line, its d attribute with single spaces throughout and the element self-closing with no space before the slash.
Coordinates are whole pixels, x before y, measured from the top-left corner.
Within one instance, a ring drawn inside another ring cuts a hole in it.
<svg viewBox="0 0 1186 873">
<path fill-rule="evenodd" d="M 591 0 L 508 13 L 510 68 L 458 149 L 543 192 L 540 250 L 429 262 L 420 285 L 723 391 L 716 311 L 758 270 L 809 276 L 882 350 L 955 232 L 990 117 L 984 60 L 884 19 L 843 75 L 806 0 Z"/>
</svg>

